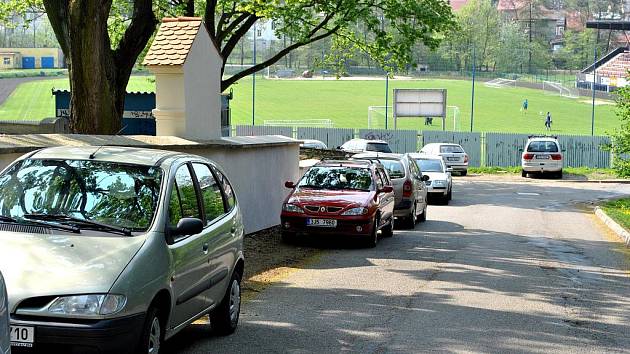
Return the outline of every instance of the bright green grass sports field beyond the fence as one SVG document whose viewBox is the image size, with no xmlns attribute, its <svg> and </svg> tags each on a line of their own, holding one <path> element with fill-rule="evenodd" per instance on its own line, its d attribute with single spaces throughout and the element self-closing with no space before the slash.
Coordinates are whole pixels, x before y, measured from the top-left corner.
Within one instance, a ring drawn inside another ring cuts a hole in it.
<svg viewBox="0 0 630 354">
<path fill-rule="evenodd" d="M 384 80 L 266 80 L 257 79 L 256 124 L 264 120 L 331 119 L 335 127 L 367 127 L 369 106 L 385 105 Z M 54 113 L 51 89 L 67 88 L 66 79 L 24 83 L 0 106 L 0 119 L 41 119 Z M 147 77 L 136 76 L 129 90 L 153 91 L 155 84 Z M 459 108 L 458 126 L 470 129 L 471 82 L 465 80 L 390 80 L 394 88 L 445 88 L 448 105 Z M 231 102 L 233 124 L 251 124 L 252 82 L 250 78 L 233 86 Z M 529 112 L 520 111 L 521 102 L 529 100 Z M 583 97 L 570 99 L 548 96 L 541 90 L 525 88 L 475 87 L 475 131 L 538 133 L 544 131 L 544 116 L 553 117 L 552 133 L 590 134 L 591 104 Z M 597 105 L 595 133 L 605 134 L 619 126 L 614 106 Z M 391 115 L 391 112 L 390 112 Z M 420 119 L 399 120 L 399 129 L 427 129 Z M 447 129 L 452 129 L 449 121 Z M 441 129 L 436 119 L 429 129 Z"/>
</svg>

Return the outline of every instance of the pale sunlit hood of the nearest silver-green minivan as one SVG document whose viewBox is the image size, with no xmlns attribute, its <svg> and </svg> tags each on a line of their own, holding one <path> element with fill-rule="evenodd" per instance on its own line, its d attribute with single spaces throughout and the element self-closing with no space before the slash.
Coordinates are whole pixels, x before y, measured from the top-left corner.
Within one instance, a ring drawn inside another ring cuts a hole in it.
<svg viewBox="0 0 630 354">
<path fill-rule="evenodd" d="M 107 293 L 145 240 L 0 232 L 11 313 L 30 297 Z"/>
</svg>

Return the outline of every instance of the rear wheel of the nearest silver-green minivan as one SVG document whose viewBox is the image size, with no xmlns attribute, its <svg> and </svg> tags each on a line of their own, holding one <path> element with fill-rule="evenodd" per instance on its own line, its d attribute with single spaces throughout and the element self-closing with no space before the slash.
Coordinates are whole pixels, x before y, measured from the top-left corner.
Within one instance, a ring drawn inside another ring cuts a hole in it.
<svg viewBox="0 0 630 354">
<path fill-rule="evenodd" d="M 223 300 L 210 312 L 210 326 L 214 333 L 227 336 L 238 327 L 241 311 L 241 276 L 234 272 Z"/>
</svg>

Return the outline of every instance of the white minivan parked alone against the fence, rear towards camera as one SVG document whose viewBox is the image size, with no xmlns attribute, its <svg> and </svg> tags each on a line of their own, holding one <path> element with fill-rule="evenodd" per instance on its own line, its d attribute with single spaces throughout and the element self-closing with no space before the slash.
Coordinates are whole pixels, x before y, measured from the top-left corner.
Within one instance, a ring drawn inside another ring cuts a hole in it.
<svg viewBox="0 0 630 354">
<path fill-rule="evenodd" d="M 562 178 L 564 156 L 557 137 L 532 135 L 521 153 L 521 176 L 541 173 Z"/>
</svg>

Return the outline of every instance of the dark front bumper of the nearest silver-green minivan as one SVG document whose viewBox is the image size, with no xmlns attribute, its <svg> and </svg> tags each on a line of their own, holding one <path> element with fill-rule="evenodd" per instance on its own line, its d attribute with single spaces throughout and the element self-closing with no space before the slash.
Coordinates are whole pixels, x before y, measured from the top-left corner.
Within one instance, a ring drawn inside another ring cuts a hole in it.
<svg viewBox="0 0 630 354">
<path fill-rule="evenodd" d="M 11 350 L 13 353 L 133 353 L 142 334 L 145 316 L 138 314 L 81 322 L 52 318 L 11 318 L 11 325 L 35 328 L 32 348 L 14 346 Z"/>
</svg>

